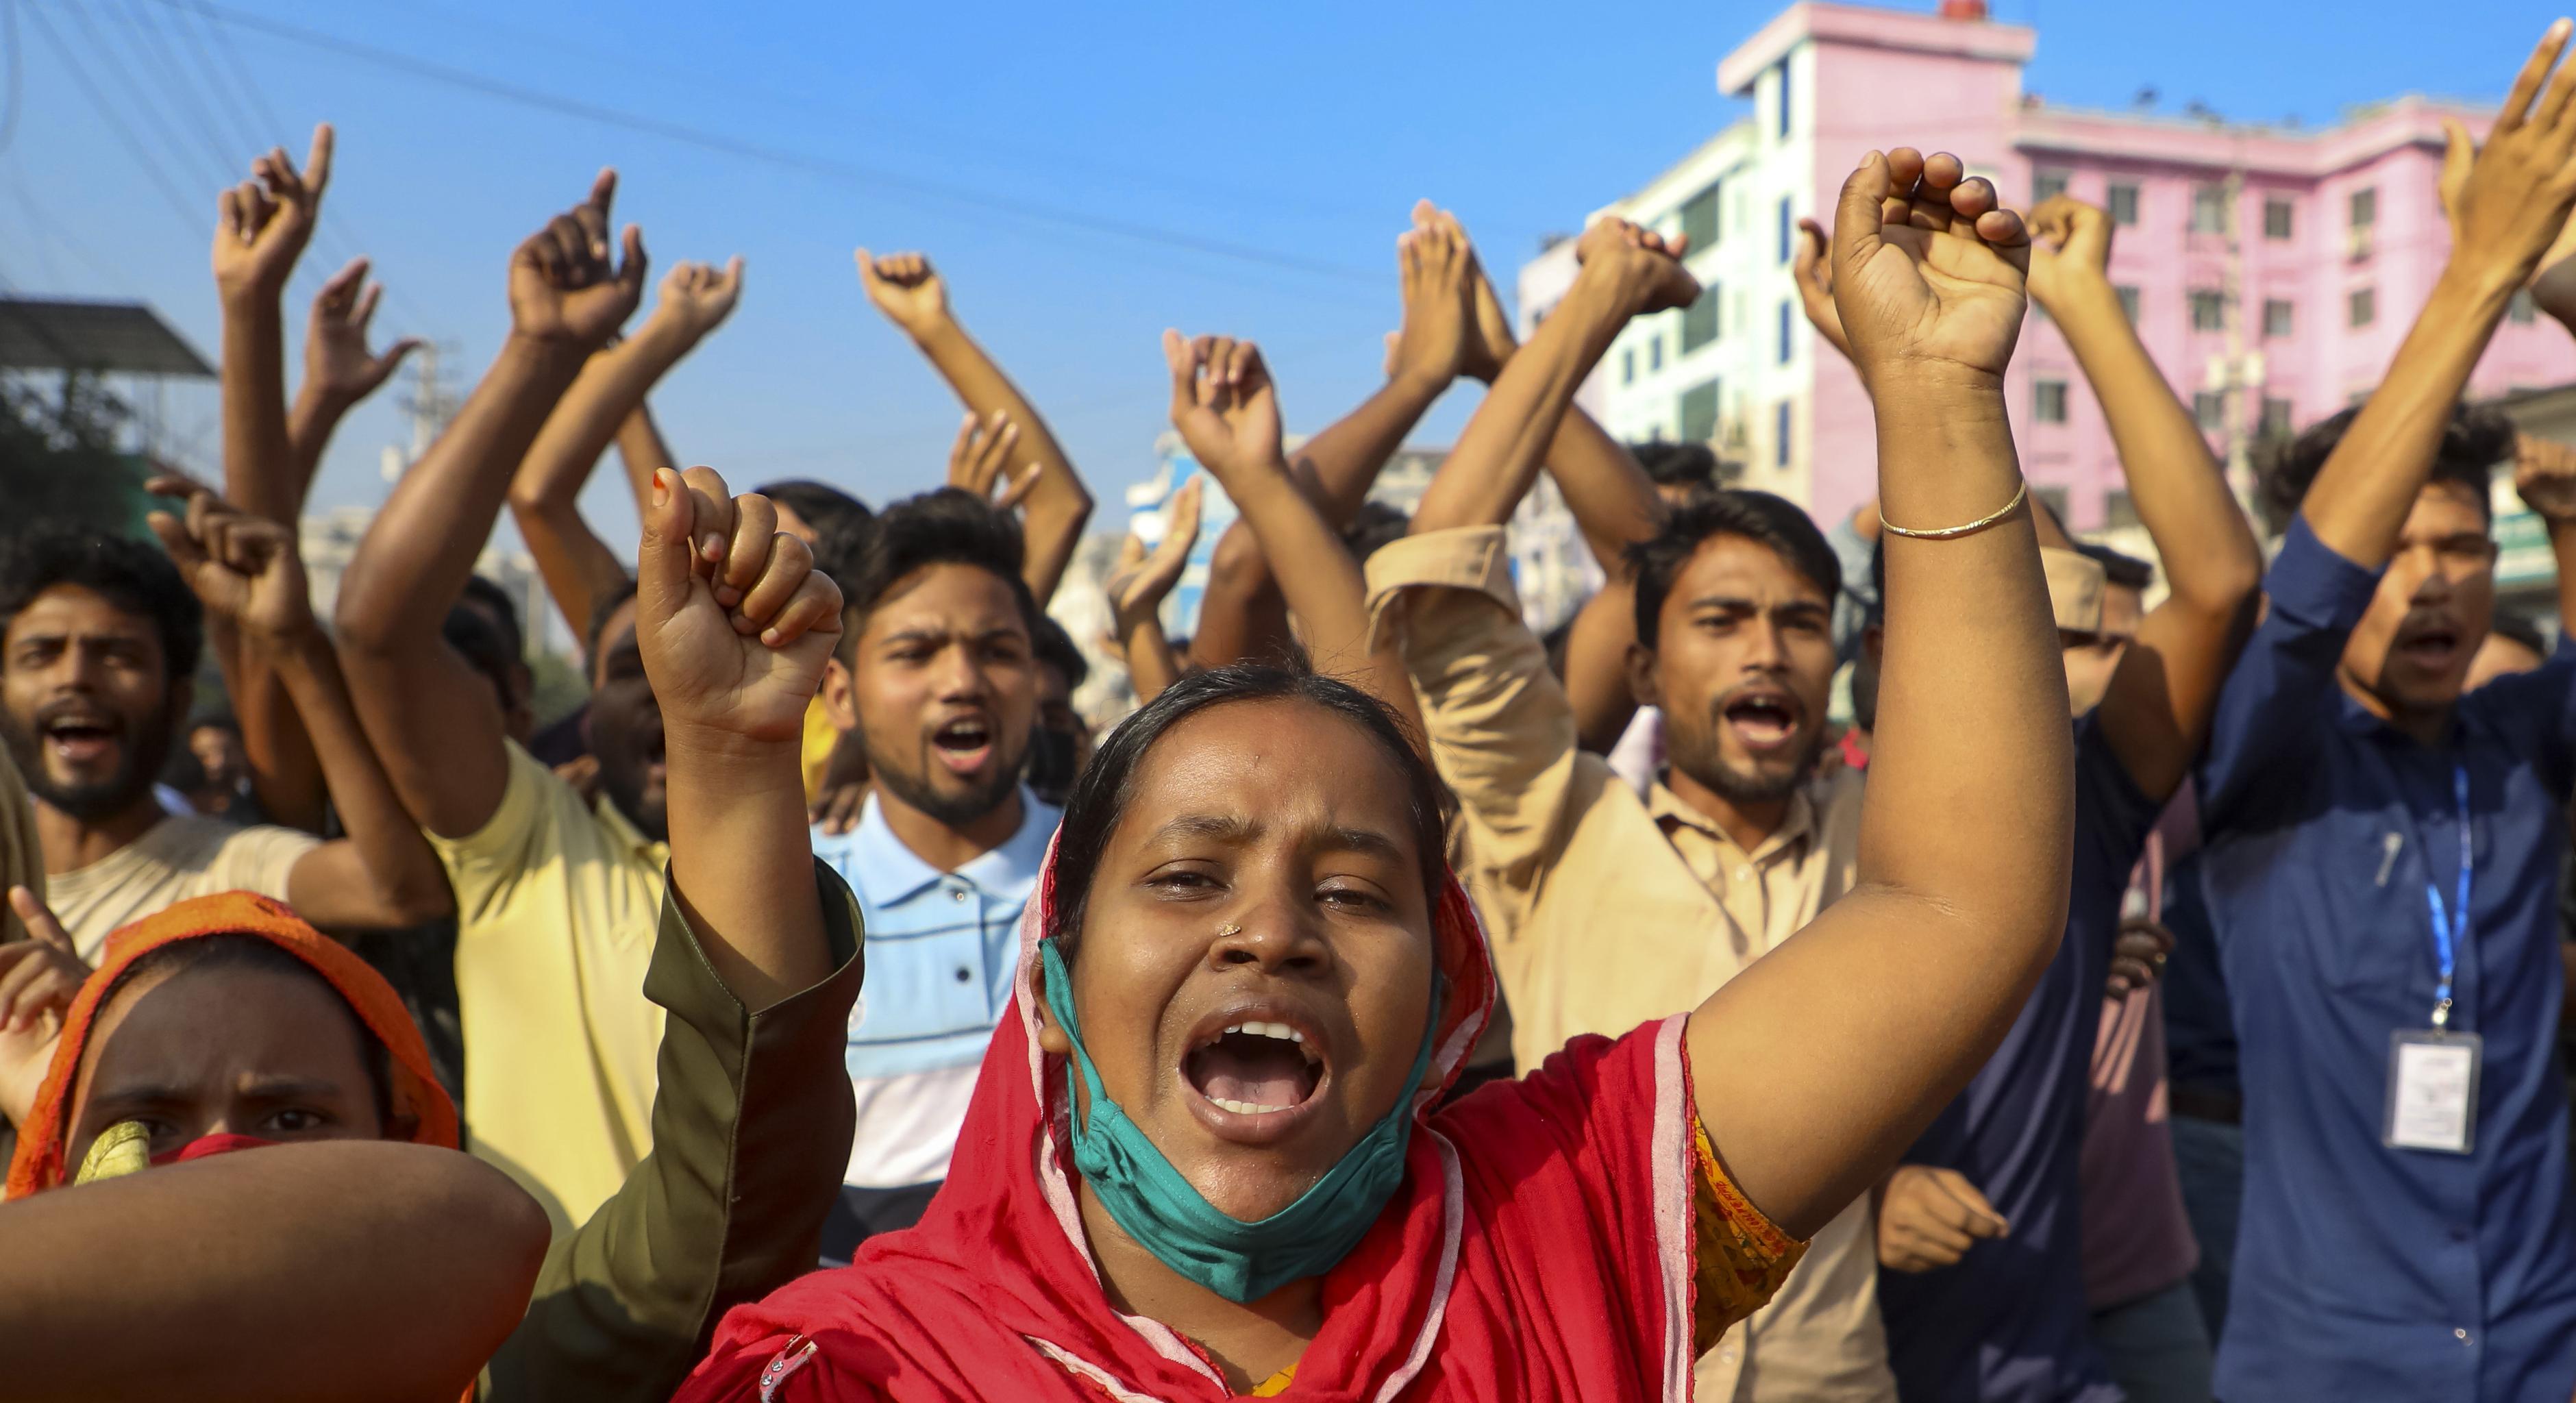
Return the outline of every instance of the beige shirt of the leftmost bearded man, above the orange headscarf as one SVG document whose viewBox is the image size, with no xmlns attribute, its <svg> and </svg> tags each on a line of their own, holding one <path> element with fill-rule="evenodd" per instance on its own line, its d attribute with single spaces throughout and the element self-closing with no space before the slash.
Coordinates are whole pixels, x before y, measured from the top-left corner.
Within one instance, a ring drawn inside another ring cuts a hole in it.
<svg viewBox="0 0 2576 1403">
<path fill-rule="evenodd" d="M 170 813 L 116 852 L 46 880 L 54 919 L 93 968 L 108 934 L 173 901 L 216 891 L 255 891 L 286 901 L 286 878 L 322 839 L 273 824 L 240 826 L 204 813 Z"/>
</svg>

